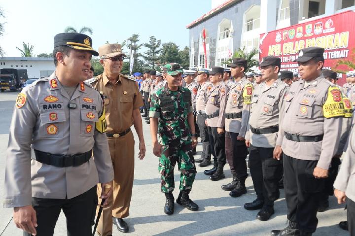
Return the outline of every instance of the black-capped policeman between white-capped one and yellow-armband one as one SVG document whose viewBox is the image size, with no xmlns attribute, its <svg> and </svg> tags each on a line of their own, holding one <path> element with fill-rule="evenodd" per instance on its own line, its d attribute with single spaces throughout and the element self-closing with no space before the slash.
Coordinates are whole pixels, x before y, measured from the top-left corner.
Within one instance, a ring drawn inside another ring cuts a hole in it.
<svg viewBox="0 0 355 236">
<path fill-rule="evenodd" d="M 228 97 L 228 87 L 223 82 L 223 71 L 223 67 L 212 67 L 210 81 L 213 83 L 213 87 L 211 88 L 211 95 L 206 105 L 206 123 L 209 133 L 213 136 L 214 163 L 217 163 L 215 172 L 210 176 L 212 181 L 224 178 L 223 167 L 226 164 L 224 112 Z"/>
</svg>

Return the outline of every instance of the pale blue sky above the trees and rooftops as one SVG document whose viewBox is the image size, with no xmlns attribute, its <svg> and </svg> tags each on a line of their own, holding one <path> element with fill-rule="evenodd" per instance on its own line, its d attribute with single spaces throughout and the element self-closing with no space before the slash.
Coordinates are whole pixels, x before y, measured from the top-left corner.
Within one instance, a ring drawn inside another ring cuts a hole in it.
<svg viewBox="0 0 355 236">
<path fill-rule="evenodd" d="M 22 48 L 23 41 L 34 45 L 36 55 L 52 52 L 54 35 L 67 26 L 91 27 L 95 49 L 132 34 L 140 34 L 141 43 L 154 35 L 183 48 L 189 44 L 186 25 L 210 11 L 211 0 L 2 0 L 0 7 L 5 13 L 0 45 L 5 57 L 20 57 L 16 46 Z"/>
</svg>

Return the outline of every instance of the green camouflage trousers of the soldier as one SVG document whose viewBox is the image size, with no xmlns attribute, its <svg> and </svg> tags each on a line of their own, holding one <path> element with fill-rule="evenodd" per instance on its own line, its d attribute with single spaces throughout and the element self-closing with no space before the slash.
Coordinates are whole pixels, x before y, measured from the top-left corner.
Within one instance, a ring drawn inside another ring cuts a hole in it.
<svg viewBox="0 0 355 236">
<path fill-rule="evenodd" d="M 174 168 L 176 163 L 178 163 L 180 171 L 180 190 L 191 190 L 196 176 L 191 143 L 179 146 L 163 146 L 158 166 L 161 175 L 161 191 L 163 193 L 174 191 Z"/>
</svg>

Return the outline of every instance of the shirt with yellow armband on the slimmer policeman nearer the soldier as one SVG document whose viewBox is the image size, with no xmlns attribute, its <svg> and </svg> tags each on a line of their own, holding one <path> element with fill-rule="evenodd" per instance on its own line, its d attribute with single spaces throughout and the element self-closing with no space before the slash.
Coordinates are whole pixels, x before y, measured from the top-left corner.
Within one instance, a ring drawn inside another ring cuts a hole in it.
<svg viewBox="0 0 355 236">
<path fill-rule="evenodd" d="M 242 117 L 226 119 L 225 130 L 227 132 L 237 133 L 239 136 L 245 137 L 249 120 L 252 91 L 252 84 L 246 77 L 235 82 L 234 86 L 231 87 L 225 113 L 242 112 Z"/>
</svg>

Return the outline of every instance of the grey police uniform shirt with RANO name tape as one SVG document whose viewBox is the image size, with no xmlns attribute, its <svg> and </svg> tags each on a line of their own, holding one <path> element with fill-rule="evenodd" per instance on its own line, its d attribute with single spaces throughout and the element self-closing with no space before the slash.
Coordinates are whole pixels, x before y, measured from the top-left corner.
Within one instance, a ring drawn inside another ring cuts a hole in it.
<svg viewBox="0 0 355 236">
<path fill-rule="evenodd" d="M 96 129 L 102 115 L 99 92 L 85 83 L 71 98 L 55 73 L 24 88 L 10 125 L 4 207 L 30 205 L 31 197 L 71 199 L 97 183 L 111 181 L 107 138 Z M 31 156 L 35 159 L 32 149 L 58 155 L 92 150 L 94 158 L 80 166 L 59 168 L 31 161 Z"/>
</svg>

